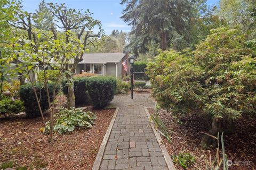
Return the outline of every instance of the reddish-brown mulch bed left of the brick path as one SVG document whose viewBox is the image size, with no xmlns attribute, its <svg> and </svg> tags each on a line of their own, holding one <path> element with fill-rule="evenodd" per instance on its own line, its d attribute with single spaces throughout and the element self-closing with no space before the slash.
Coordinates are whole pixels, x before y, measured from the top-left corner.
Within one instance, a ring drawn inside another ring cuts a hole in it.
<svg viewBox="0 0 256 170">
<path fill-rule="evenodd" d="M 76 127 L 48 143 L 40 117 L 0 119 L 0 165 L 13 161 L 28 169 L 91 169 L 115 109 L 88 110 L 97 115 L 92 129 Z M 45 115 L 49 119 L 49 115 Z"/>
</svg>

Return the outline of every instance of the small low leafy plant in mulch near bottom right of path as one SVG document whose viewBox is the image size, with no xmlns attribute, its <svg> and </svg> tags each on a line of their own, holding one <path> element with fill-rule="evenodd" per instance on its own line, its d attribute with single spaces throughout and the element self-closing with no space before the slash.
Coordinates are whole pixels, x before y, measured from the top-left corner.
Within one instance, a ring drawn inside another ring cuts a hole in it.
<svg viewBox="0 0 256 170">
<path fill-rule="evenodd" d="M 188 169 L 191 165 L 196 163 L 194 155 L 187 152 L 180 152 L 178 155 L 173 155 L 173 162 L 180 164 L 184 169 Z"/>
</svg>

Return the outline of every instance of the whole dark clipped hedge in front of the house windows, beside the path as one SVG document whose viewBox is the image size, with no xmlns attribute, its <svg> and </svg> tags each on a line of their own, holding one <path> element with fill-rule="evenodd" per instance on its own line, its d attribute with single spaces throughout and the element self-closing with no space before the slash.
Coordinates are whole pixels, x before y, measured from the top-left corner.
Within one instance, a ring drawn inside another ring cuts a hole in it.
<svg viewBox="0 0 256 170">
<path fill-rule="evenodd" d="M 67 96 L 66 81 L 62 81 L 63 94 Z M 75 105 L 92 104 L 103 108 L 114 98 L 116 79 L 113 77 L 81 77 L 74 80 Z"/>
</svg>

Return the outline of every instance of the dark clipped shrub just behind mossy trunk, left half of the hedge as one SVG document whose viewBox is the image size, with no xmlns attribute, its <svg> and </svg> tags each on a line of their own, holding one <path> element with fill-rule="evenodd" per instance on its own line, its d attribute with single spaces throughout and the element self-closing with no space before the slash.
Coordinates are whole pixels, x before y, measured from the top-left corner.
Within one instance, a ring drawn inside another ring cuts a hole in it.
<svg viewBox="0 0 256 170">
<path fill-rule="evenodd" d="M 74 94 L 75 94 L 75 105 L 84 105 L 91 103 L 90 96 L 87 90 L 88 77 L 78 77 L 74 79 Z M 68 95 L 67 81 L 62 81 L 62 91 L 66 96 Z"/>
</svg>

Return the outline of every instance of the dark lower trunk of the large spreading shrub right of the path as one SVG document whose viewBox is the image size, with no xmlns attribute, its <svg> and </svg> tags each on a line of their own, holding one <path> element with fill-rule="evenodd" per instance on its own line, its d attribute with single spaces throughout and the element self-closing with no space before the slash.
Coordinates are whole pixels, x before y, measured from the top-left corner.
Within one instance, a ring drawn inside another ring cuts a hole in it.
<svg viewBox="0 0 256 170">
<path fill-rule="evenodd" d="M 217 120 L 216 118 L 212 117 L 212 127 L 207 133 L 210 135 L 213 135 L 214 137 L 217 137 L 218 132 L 219 132 L 219 134 L 221 134 L 221 132 L 222 132 L 221 126 L 220 126 L 220 121 Z M 219 141 L 216 141 L 216 139 L 205 134 L 201 139 L 201 147 L 207 148 L 211 145 L 213 147 L 216 147 L 217 142 L 219 142 Z"/>
</svg>

